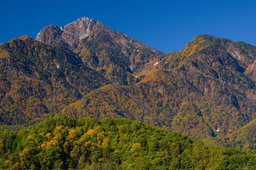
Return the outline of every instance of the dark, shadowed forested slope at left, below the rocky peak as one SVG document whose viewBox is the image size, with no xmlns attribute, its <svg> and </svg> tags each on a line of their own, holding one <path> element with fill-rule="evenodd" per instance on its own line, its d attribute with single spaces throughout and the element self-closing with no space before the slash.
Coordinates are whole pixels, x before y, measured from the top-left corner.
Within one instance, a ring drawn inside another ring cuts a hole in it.
<svg viewBox="0 0 256 170">
<path fill-rule="evenodd" d="M 31 124 L 106 82 L 70 50 L 12 39 L 0 45 L 1 124 Z"/>
</svg>

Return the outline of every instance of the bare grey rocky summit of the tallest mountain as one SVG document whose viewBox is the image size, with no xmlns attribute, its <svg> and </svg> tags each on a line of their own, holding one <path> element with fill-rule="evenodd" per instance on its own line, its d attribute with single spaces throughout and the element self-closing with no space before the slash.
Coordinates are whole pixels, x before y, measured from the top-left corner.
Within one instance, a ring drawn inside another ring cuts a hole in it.
<svg viewBox="0 0 256 170">
<path fill-rule="evenodd" d="M 109 29 L 109 27 L 102 24 L 102 22 L 88 17 L 79 18 L 76 21 L 61 27 L 48 25 L 38 33 L 36 40 L 48 45 L 66 46 L 71 50 L 74 50 L 82 43 L 84 38 L 98 34 L 99 32 L 103 32 L 104 35 L 108 36 L 109 41 L 118 42 L 122 45 L 126 45 L 126 43 L 129 42 L 134 43 L 136 47 L 145 46 L 119 31 Z M 63 43 L 63 41 L 65 43 Z M 152 48 L 152 50 L 155 49 Z"/>
</svg>

